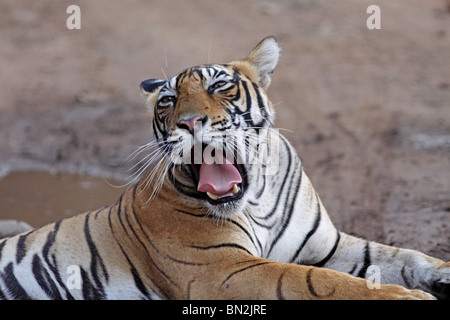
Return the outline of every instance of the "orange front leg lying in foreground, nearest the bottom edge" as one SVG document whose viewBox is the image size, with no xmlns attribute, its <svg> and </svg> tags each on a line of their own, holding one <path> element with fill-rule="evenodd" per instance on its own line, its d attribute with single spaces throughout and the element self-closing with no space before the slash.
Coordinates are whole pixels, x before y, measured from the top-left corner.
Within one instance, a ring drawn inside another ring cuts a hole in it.
<svg viewBox="0 0 450 320">
<path fill-rule="evenodd" d="M 342 272 L 254 257 L 222 261 L 214 272 L 199 276 L 190 283 L 191 299 L 433 299 L 420 290 L 370 289 L 366 280 Z"/>
</svg>

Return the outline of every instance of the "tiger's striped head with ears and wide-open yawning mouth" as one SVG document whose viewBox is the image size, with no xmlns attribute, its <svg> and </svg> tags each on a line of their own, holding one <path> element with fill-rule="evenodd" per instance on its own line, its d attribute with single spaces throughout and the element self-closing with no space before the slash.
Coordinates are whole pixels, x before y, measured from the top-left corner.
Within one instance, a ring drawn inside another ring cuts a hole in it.
<svg viewBox="0 0 450 320">
<path fill-rule="evenodd" d="M 268 37 L 245 59 L 141 83 L 153 113 L 158 172 L 218 216 L 242 210 L 257 192 L 255 163 L 261 163 L 249 159 L 260 154 L 274 121 L 266 90 L 279 55 Z"/>
</svg>

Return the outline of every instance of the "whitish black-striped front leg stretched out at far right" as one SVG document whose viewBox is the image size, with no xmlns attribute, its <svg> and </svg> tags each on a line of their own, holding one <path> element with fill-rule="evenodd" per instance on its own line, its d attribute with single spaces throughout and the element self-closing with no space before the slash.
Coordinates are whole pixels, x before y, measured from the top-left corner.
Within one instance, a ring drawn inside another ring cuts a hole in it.
<svg viewBox="0 0 450 320">
<path fill-rule="evenodd" d="M 378 283 L 424 290 L 438 299 L 450 298 L 449 262 L 342 232 L 336 252 L 324 267 Z"/>
</svg>

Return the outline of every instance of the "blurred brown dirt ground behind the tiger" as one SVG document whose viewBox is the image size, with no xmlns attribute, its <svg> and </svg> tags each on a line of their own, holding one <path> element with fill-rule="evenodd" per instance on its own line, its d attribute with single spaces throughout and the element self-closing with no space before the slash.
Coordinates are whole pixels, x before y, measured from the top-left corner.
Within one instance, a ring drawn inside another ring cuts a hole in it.
<svg viewBox="0 0 450 320">
<path fill-rule="evenodd" d="M 445 0 L 0 0 L 0 217 L 94 206 L 81 189 L 116 197 L 105 179 L 151 139 L 140 81 L 244 57 L 268 35 L 283 48 L 276 126 L 338 228 L 450 260 Z"/>
</svg>

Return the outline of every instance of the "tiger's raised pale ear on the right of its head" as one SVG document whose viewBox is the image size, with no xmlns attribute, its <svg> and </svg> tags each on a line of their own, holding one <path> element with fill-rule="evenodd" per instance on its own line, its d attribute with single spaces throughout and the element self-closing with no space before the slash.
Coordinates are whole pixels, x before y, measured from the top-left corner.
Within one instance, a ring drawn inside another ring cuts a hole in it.
<svg viewBox="0 0 450 320">
<path fill-rule="evenodd" d="M 281 48 L 275 37 L 264 38 L 245 59 L 257 71 L 259 85 L 267 89 L 280 58 Z"/>
</svg>

